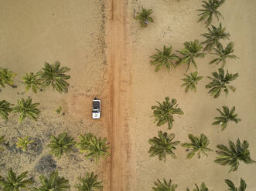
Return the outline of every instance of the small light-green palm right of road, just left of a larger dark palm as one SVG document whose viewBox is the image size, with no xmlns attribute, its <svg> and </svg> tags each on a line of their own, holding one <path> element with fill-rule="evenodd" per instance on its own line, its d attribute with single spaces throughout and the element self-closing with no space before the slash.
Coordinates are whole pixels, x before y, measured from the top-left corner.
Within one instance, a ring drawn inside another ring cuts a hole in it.
<svg viewBox="0 0 256 191">
<path fill-rule="evenodd" d="M 181 79 L 184 83 L 180 86 L 186 86 L 185 92 L 189 92 L 189 90 L 193 90 L 194 92 L 196 92 L 197 82 L 203 79 L 203 76 L 198 76 L 197 74 L 197 72 L 189 73 L 189 75 L 184 74 L 186 78 Z"/>
</svg>

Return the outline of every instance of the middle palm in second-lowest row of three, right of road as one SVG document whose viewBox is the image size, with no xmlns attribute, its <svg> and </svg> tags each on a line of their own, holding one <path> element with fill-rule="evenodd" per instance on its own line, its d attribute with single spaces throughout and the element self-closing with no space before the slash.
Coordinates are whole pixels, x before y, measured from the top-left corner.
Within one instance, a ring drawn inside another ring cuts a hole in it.
<svg viewBox="0 0 256 191">
<path fill-rule="evenodd" d="M 186 151 L 189 151 L 189 154 L 187 155 L 187 159 L 191 159 L 197 152 L 198 158 L 201 157 L 201 152 L 207 155 L 208 151 L 212 151 L 212 149 L 208 148 L 207 146 L 210 144 L 209 139 L 204 134 L 201 134 L 200 137 L 193 136 L 192 134 L 189 134 L 190 143 L 186 142 L 181 144 L 181 146 L 186 148 Z"/>
</svg>

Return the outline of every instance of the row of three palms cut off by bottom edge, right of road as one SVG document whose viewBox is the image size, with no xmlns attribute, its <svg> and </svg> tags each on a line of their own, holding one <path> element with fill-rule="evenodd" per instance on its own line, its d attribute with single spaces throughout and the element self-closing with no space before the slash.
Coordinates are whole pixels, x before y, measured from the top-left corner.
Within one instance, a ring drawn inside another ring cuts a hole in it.
<svg viewBox="0 0 256 191">
<path fill-rule="evenodd" d="M 245 191 L 247 185 L 244 181 L 244 179 L 241 179 L 240 186 L 236 187 L 234 183 L 230 179 L 225 179 L 225 183 L 227 184 L 227 187 L 230 191 Z M 152 187 L 153 191 L 176 191 L 178 185 L 172 183 L 172 179 L 166 180 L 163 179 L 160 181 L 157 179 L 155 181 L 155 186 Z M 192 191 L 209 191 L 207 185 L 205 183 L 201 183 L 200 186 L 195 184 L 196 188 L 192 189 Z M 186 191 L 190 191 L 189 188 L 186 189 Z"/>
</svg>

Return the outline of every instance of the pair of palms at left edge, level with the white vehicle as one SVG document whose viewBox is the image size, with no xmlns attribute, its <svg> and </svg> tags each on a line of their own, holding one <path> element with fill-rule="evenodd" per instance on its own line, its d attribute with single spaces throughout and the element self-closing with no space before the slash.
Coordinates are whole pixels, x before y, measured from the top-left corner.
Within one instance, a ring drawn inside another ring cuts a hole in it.
<svg viewBox="0 0 256 191">
<path fill-rule="evenodd" d="M 6 100 L 0 101 L 0 116 L 2 119 L 8 120 L 9 113 L 14 112 L 19 114 L 19 121 L 22 122 L 26 118 L 37 120 L 40 110 L 37 108 L 40 104 L 39 102 L 32 103 L 32 99 L 18 99 L 17 106 L 13 106 L 10 102 Z"/>
</svg>

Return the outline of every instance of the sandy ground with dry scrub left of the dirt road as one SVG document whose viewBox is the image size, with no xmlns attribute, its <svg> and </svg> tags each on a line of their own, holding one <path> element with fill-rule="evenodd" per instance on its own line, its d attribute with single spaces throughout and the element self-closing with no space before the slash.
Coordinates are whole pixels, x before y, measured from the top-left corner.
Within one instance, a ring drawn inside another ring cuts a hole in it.
<svg viewBox="0 0 256 191">
<path fill-rule="evenodd" d="M 57 160 L 49 156 L 50 135 L 68 132 L 77 141 L 78 134 L 93 132 L 97 136 L 108 136 L 109 119 L 107 108 L 108 80 L 105 80 L 106 59 L 104 54 L 104 2 L 101 0 L 77 1 L 0 1 L 0 66 L 11 69 L 18 75 L 18 89 L 2 89 L 1 99 L 16 103 L 17 99 L 31 96 L 40 102 L 42 110 L 38 122 L 25 120 L 19 124 L 17 116 L 9 122 L 0 122 L 0 135 L 5 135 L 9 144 L 0 158 L 0 174 L 5 176 L 12 167 L 15 172 L 29 171 L 36 177 L 58 169 L 61 176 L 77 183 L 77 176 L 87 171 L 99 173 L 104 181 L 104 168 L 108 162 L 92 163 L 76 151 Z M 21 76 L 26 72 L 37 72 L 44 62 L 60 61 L 71 70 L 70 89 L 67 94 L 25 92 Z M 104 102 L 102 119 L 91 119 L 91 100 L 99 96 Z M 55 110 L 63 107 L 65 116 Z M 31 136 L 35 144 L 28 152 L 15 148 L 18 136 Z M 108 177 L 108 176 L 107 176 Z M 72 187 L 72 189 L 74 189 Z"/>
</svg>

